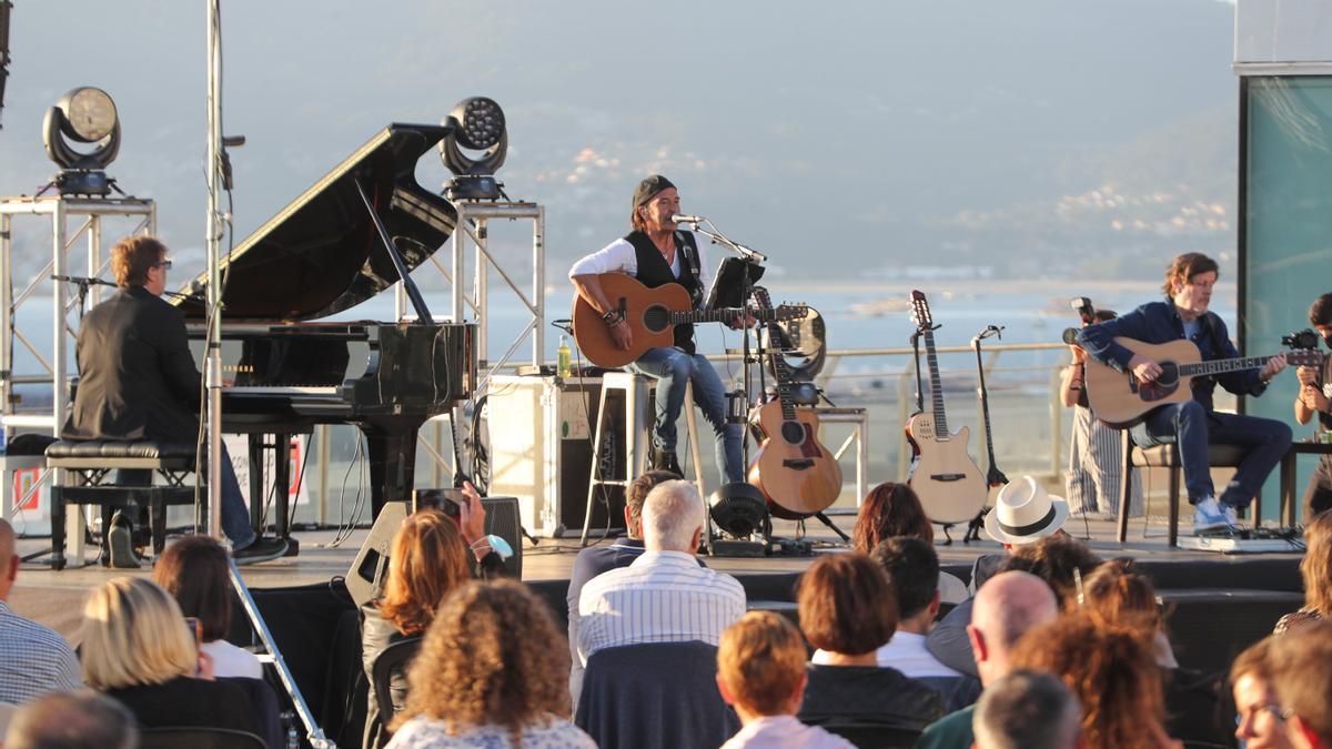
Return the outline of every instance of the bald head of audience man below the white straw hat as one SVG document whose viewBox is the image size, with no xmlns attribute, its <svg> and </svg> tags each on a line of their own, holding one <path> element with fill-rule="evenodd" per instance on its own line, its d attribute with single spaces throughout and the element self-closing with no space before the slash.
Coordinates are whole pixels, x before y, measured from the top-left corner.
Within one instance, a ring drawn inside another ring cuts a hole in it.
<svg viewBox="0 0 1332 749">
<path fill-rule="evenodd" d="M 980 682 L 1003 677 L 1008 672 L 1008 650 L 1018 640 L 1058 616 L 1054 590 L 1035 574 L 1004 572 L 986 581 L 976 593 L 967 628 Z"/>
</svg>

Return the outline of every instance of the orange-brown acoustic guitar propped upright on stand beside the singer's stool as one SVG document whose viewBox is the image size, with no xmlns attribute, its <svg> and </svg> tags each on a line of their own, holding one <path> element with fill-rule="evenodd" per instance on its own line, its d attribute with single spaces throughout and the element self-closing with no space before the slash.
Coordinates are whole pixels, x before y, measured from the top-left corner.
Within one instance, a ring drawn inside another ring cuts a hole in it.
<svg viewBox="0 0 1332 749">
<path fill-rule="evenodd" d="M 767 289 L 755 287 L 758 308 L 771 308 Z M 769 324 L 769 340 L 777 341 L 777 325 Z M 763 404 L 751 417 L 763 433 L 750 465 L 749 482 L 767 497 L 769 512 L 785 520 L 802 520 L 826 510 L 842 493 L 842 466 L 819 442 L 819 417 L 813 409 L 795 408 L 791 371 L 782 352 L 769 352 L 777 376 L 777 400 Z"/>
</svg>

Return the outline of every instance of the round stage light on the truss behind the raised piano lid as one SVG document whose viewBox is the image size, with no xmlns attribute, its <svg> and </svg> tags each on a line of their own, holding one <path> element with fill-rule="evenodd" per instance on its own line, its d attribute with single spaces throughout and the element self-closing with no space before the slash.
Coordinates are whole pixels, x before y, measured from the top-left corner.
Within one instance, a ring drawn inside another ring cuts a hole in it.
<svg viewBox="0 0 1332 749">
<path fill-rule="evenodd" d="M 503 111 L 493 99 L 473 96 L 460 101 L 444 124 L 450 131 L 440 141 L 440 157 L 454 175 L 444 185 L 444 193 L 450 200 L 498 199 L 502 184 L 494 173 L 509 153 Z M 469 156 L 464 149 L 481 153 Z"/>
</svg>

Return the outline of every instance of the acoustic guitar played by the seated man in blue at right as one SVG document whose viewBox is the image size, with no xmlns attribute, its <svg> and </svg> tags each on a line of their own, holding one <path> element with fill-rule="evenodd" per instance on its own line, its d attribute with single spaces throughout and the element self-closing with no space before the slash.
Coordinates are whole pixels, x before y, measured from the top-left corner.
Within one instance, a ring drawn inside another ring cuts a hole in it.
<svg viewBox="0 0 1332 749">
<path fill-rule="evenodd" d="M 1193 388 L 1189 380 L 1193 377 L 1259 369 L 1272 359 L 1269 355 L 1203 361 L 1203 355 L 1193 341 L 1184 339 L 1164 344 L 1144 344 L 1134 339 L 1115 339 L 1115 343 L 1156 361 L 1162 368 L 1160 377 L 1144 382 L 1132 373 L 1126 374 L 1087 357 L 1083 380 L 1087 404 L 1096 418 L 1118 428 L 1138 424 L 1148 410 L 1159 405 L 1192 398 Z M 1312 349 L 1292 349 L 1285 352 L 1285 361 L 1296 367 L 1321 367 L 1323 355 Z"/>
</svg>

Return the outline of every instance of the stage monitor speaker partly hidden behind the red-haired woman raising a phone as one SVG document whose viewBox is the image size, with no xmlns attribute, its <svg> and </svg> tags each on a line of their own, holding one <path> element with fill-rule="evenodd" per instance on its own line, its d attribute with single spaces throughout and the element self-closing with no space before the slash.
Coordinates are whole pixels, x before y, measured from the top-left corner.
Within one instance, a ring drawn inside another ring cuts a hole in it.
<svg viewBox="0 0 1332 749">
<path fill-rule="evenodd" d="M 514 580 L 521 580 L 522 529 L 518 525 L 518 500 L 482 497 L 481 504 L 486 508 L 486 533 L 500 536 L 513 548 L 513 556 L 505 561 L 505 570 Z M 384 580 L 389 574 L 389 549 L 393 546 L 393 536 L 408 516 L 408 506 L 406 502 L 386 502 L 352 561 L 352 569 L 346 572 L 346 592 L 356 605 L 364 606 L 384 590 Z"/>
</svg>

